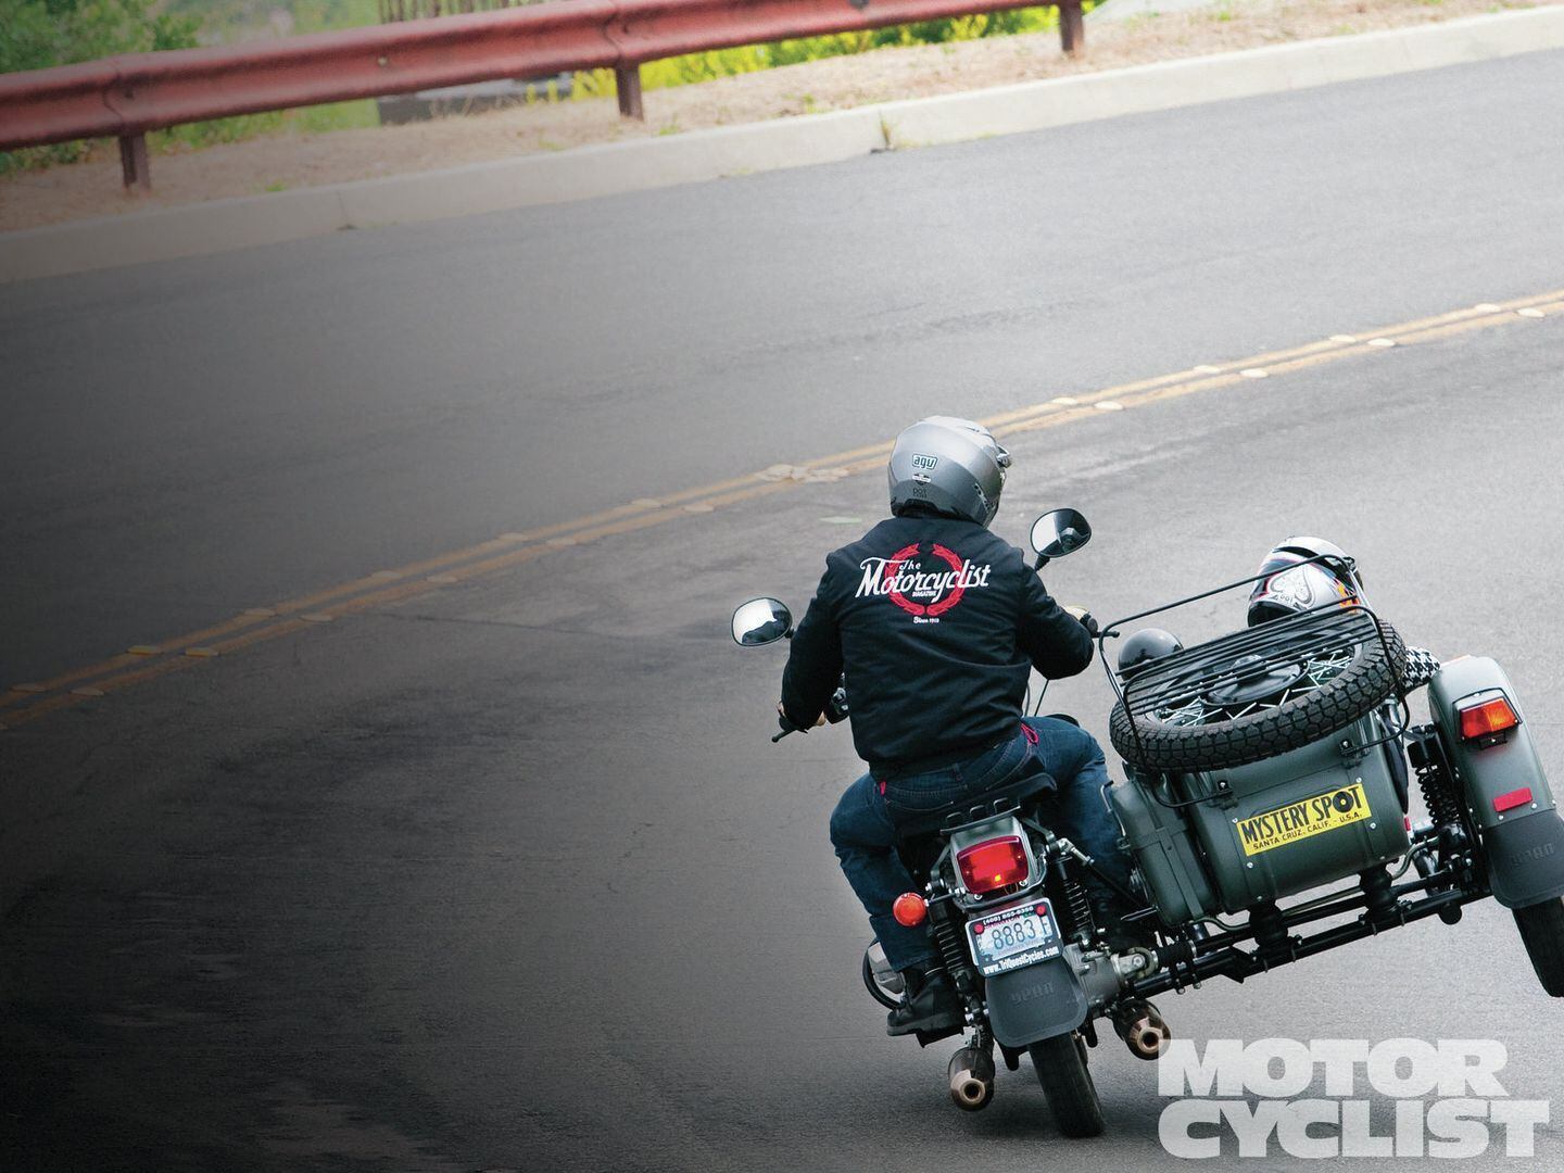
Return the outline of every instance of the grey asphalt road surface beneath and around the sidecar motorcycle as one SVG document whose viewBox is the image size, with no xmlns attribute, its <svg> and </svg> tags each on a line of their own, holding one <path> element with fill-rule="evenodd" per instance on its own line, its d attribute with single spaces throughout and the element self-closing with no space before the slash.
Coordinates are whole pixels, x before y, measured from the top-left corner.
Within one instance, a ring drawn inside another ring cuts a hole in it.
<svg viewBox="0 0 1564 1173">
<path fill-rule="evenodd" d="M 927 410 L 1558 289 L 1561 66 L 0 289 L 0 685 Z M 1509 668 L 1564 776 L 1561 352 L 1564 314 L 1506 314 L 1071 413 L 1007 441 L 996 529 L 1085 510 L 1048 582 L 1099 615 L 1328 533 L 1409 640 Z M 1109 1135 L 1067 1143 L 1024 1070 L 957 1114 L 951 1046 L 885 1038 L 857 984 L 824 835 L 851 744 L 771 746 L 780 652 L 726 622 L 802 604 L 882 493 L 549 546 L 0 734 L 0 1168 L 1173 1168 L 1117 1045 Z M 1049 707 L 1106 734 L 1095 668 Z M 1492 904 L 1165 1010 L 1495 1038 L 1512 1096 L 1559 1082 L 1559 1007 Z"/>
</svg>

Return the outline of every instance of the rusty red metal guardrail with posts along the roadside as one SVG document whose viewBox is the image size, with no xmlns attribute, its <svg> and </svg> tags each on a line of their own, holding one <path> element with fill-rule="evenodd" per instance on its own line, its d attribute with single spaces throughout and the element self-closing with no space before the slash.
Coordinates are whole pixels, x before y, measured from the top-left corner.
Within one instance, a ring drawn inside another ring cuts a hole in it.
<svg viewBox="0 0 1564 1173">
<path fill-rule="evenodd" d="M 186 122 L 577 69 L 613 69 L 644 117 L 640 66 L 827 33 L 1028 8 L 1024 0 L 558 0 L 261 44 L 131 53 L 0 75 L 0 150 L 117 138 L 127 188 L 152 186 L 147 131 Z M 1081 0 L 1056 0 L 1065 53 Z"/>
</svg>

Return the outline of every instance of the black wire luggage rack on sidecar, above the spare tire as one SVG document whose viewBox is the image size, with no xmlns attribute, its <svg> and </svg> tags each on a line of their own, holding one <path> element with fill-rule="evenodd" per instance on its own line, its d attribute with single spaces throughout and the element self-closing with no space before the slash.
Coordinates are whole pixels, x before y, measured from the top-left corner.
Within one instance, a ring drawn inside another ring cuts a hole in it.
<svg viewBox="0 0 1564 1173">
<path fill-rule="evenodd" d="M 1267 671 L 1351 651 L 1368 640 L 1379 640 L 1386 660 L 1395 665 L 1379 616 L 1364 605 L 1331 602 L 1186 647 L 1120 673 L 1118 680 L 1126 712 L 1139 718 L 1181 708 L 1212 690 Z M 1139 723 L 1129 724 L 1139 741 Z"/>
</svg>

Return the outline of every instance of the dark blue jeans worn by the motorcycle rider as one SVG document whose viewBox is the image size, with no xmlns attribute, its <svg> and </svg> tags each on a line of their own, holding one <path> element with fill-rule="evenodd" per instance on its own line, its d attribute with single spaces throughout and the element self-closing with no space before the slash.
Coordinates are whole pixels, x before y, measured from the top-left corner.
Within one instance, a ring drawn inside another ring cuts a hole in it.
<svg viewBox="0 0 1564 1173">
<path fill-rule="evenodd" d="M 1103 793 L 1107 765 L 1096 738 L 1053 716 L 1026 716 L 1021 724 L 1035 734 L 1035 744 L 1018 729 L 1015 740 L 970 762 L 887 779 L 884 795 L 881 784 L 865 774 L 837 802 L 830 815 L 830 843 L 895 968 L 924 967 L 935 959 L 926 926 L 909 929 L 890 913 L 901 893 L 923 890 L 896 854 L 896 824 L 1012 782 L 1028 766 L 1028 759 L 1059 784 L 1057 793 L 1038 807 L 1040 821 L 1092 856 L 1114 879 L 1129 882 L 1129 859 L 1118 849 L 1118 823 Z M 1092 874 L 1084 884 L 1093 895 L 1109 895 Z"/>
</svg>

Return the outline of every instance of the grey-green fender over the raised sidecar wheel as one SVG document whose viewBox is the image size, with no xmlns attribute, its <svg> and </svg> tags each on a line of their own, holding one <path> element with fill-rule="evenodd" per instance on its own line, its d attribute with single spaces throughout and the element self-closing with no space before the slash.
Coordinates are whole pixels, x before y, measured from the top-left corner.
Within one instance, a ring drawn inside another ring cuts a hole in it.
<svg viewBox="0 0 1564 1173">
<path fill-rule="evenodd" d="M 1462 741 L 1456 705 L 1495 688 L 1503 690 L 1520 724 L 1500 744 Z M 1456 787 L 1483 837 L 1494 898 L 1519 909 L 1564 896 L 1564 820 L 1509 676 L 1486 655 L 1451 660 L 1428 685 L 1428 708 L 1450 755 Z M 1531 791 L 1530 801 L 1505 810 L 1495 805 L 1495 799 L 1525 790 Z"/>
</svg>

